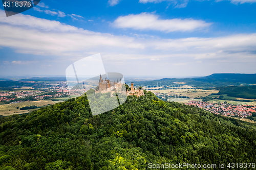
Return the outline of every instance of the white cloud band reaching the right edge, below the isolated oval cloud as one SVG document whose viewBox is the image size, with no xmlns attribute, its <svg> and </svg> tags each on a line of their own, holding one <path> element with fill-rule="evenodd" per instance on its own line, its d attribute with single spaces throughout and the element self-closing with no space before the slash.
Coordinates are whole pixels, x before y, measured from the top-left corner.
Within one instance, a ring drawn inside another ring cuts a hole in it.
<svg viewBox="0 0 256 170">
<path fill-rule="evenodd" d="M 161 39 L 152 42 L 156 50 L 196 51 L 198 53 L 255 53 L 256 34 L 237 34 L 217 38 Z M 205 55 L 203 58 L 209 57 Z"/>
</svg>

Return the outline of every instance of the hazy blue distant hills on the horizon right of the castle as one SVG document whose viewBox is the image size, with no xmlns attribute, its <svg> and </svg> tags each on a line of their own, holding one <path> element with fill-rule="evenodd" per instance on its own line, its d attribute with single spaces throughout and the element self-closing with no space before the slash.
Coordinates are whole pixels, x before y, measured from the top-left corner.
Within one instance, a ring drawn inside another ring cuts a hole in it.
<svg viewBox="0 0 256 170">
<path fill-rule="evenodd" d="M 164 86 L 175 85 L 176 82 L 184 82 L 184 85 L 194 87 L 219 87 L 256 84 L 256 74 L 212 74 L 199 78 L 164 78 L 154 81 L 134 82 L 135 85 Z M 179 84 L 181 86 L 181 84 Z"/>
</svg>

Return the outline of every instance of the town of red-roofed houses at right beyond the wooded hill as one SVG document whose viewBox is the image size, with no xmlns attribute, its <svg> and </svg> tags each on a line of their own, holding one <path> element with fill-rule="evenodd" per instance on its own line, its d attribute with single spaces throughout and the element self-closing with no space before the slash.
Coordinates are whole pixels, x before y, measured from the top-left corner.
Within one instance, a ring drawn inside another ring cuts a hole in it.
<svg viewBox="0 0 256 170">
<path fill-rule="evenodd" d="M 234 105 L 228 103 L 208 103 L 201 101 L 189 101 L 186 105 L 194 105 L 199 108 L 204 108 L 211 113 L 221 114 L 228 117 L 247 117 L 256 112 L 256 106 Z"/>
</svg>

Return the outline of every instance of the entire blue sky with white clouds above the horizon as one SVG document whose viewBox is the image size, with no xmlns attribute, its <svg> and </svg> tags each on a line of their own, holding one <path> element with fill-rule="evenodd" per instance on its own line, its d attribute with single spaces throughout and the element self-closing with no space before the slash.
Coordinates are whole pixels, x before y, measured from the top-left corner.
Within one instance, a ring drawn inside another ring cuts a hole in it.
<svg viewBox="0 0 256 170">
<path fill-rule="evenodd" d="M 44 1 L 6 17 L 1 75 L 65 75 L 101 54 L 107 71 L 186 77 L 255 73 L 256 1 Z"/>
</svg>

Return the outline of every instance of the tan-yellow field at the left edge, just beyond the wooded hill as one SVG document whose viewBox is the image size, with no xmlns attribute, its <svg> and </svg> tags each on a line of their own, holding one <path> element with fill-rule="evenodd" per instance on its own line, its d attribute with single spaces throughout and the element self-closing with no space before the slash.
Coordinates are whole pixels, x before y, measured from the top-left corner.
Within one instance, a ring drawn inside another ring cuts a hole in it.
<svg viewBox="0 0 256 170">
<path fill-rule="evenodd" d="M 55 104 L 52 101 L 29 101 L 29 102 L 21 102 L 21 103 L 14 103 L 14 104 L 8 104 L 8 105 L 0 105 L 0 115 L 11 115 L 11 114 L 22 114 L 22 113 L 28 113 L 31 110 L 19 110 L 19 108 L 25 107 L 25 106 L 45 106 L 45 105 L 53 105 Z M 19 107 L 17 109 L 17 107 Z"/>
</svg>

